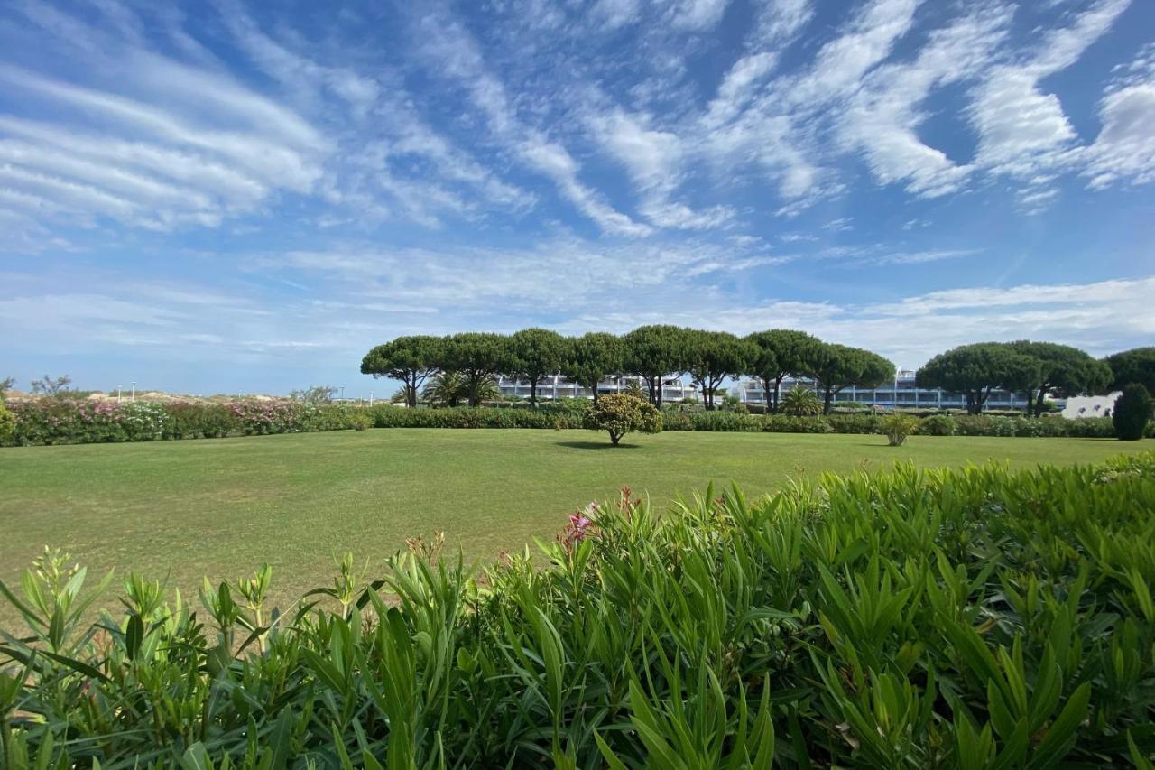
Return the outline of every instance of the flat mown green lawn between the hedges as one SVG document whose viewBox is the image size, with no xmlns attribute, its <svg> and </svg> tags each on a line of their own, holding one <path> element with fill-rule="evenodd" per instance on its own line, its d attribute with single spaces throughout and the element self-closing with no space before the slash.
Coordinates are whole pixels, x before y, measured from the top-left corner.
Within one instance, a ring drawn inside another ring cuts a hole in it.
<svg viewBox="0 0 1155 770">
<path fill-rule="evenodd" d="M 253 438 L 0 449 L 0 579 L 45 545 L 90 575 L 116 568 L 195 587 L 274 567 L 282 599 L 329 582 L 331 555 L 380 560 L 410 535 L 446 533 L 492 560 L 552 536 L 568 513 L 628 484 L 656 502 L 710 481 L 747 494 L 788 476 L 988 459 L 1093 462 L 1152 442 L 669 432 L 611 449 L 584 431 L 371 430 Z M 0 607 L 0 621 L 10 620 Z"/>
</svg>

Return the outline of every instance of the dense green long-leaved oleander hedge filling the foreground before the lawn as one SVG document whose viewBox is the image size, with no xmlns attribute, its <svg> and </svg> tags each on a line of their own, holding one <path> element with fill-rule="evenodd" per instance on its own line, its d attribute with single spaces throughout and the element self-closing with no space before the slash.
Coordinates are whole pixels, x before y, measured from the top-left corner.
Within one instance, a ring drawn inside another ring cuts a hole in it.
<svg viewBox="0 0 1155 770">
<path fill-rule="evenodd" d="M 1155 453 L 623 490 L 471 575 L 439 542 L 278 612 L 271 573 L 122 609 L 0 586 L 5 765 L 1149 768 Z M 104 584 L 111 578 L 105 578 Z"/>
</svg>

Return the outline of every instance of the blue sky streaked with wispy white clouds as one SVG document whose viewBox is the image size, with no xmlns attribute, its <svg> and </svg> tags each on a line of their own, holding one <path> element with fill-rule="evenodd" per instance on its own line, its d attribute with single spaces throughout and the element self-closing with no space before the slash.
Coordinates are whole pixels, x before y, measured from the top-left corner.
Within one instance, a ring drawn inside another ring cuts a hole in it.
<svg viewBox="0 0 1155 770">
<path fill-rule="evenodd" d="M 1155 2 L 0 7 L 0 378 L 365 395 L 402 334 L 1155 340 Z"/>
</svg>

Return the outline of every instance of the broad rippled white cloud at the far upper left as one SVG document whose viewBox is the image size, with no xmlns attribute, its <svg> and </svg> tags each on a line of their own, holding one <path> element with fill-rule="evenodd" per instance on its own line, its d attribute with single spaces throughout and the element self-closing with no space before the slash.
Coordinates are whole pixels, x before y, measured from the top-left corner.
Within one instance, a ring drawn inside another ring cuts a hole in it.
<svg viewBox="0 0 1155 770">
<path fill-rule="evenodd" d="M 155 57 L 147 65 L 119 83 L 132 95 L 0 65 L 10 89 L 83 116 L 0 113 L 8 192 L 50 200 L 47 220 L 170 229 L 215 227 L 276 191 L 313 190 L 329 146 L 307 121 L 223 76 Z"/>
</svg>

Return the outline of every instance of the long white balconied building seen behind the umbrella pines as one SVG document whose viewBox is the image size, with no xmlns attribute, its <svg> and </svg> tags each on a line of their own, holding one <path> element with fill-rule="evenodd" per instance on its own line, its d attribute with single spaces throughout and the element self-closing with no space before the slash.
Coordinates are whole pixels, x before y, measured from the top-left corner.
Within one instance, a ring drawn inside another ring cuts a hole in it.
<svg viewBox="0 0 1155 770">
<path fill-rule="evenodd" d="M 626 390 L 628 383 L 634 382 L 646 391 L 646 383 L 640 377 L 610 377 L 603 379 L 598 386 L 598 393 L 617 393 Z M 804 386 L 813 387 L 810 380 L 787 379 L 782 383 L 782 393 Z M 498 380 L 498 388 L 502 395 L 529 398 L 529 383 L 502 377 Z M 729 387 L 729 393 L 737 395 L 743 403 L 765 403 L 766 394 L 762 392 L 761 383 L 753 379 L 742 379 Z M 588 387 L 582 387 L 560 375 L 545 377 L 537 385 L 537 397 L 542 400 L 553 399 L 588 399 L 594 393 Z M 669 378 L 662 384 L 663 401 L 683 401 L 691 399 L 701 400 L 698 387 L 678 378 Z M 919 409 L 964 409 L 967 400 L 962 393 L 949 393 L 939 388 L 926 388 L 915 386 L 915 372 L 900 371 L 894 382 L 880 387 L 848 387 L 834 397 L 834 405 L 840 403 L 866 403 L 880 407 L 906 407 Z M 984 409 L 1026 409 L 1027 399 L 1022 393 L 1009 393 L 1007 391 L 992 391 Z"/>
</svg>

